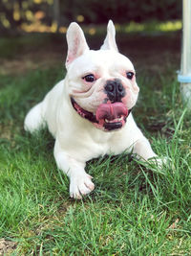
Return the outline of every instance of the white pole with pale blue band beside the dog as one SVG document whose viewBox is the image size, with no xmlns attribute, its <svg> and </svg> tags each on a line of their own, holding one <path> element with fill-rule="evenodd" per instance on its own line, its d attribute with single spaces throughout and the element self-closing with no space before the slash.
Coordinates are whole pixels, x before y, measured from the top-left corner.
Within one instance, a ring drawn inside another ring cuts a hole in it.
<svg viewBox="0 0 191 256">
<path fill-rule="evenodd" d="M 182 49 L 178 81 L 182 101 L 191 110 L 191 0 L 183 0 L 182 4 Z"/>
</svg>

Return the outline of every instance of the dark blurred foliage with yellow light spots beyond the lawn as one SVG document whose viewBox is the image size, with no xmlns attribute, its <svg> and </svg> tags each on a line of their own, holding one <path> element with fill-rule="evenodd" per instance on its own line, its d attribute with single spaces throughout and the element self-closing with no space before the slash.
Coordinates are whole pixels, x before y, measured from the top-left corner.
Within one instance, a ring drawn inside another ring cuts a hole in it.
<svg viewBox="0 0 191 256">
<path fill-rule="evenodd" d="M 1 0 L 0 31 L 64 33 L 71 21 L 90 26 L 107 23 L 110 18 L 117 24 L 131 23 L 126 28 L 130 31 L 143 30 L 142 22 L 152 22 L 158 30 L 176 30 L 180 28 L 180 6 L 180 0 Z M 173 22 L 165 28 L 166 21 Z M 93 29 L 90 34 L 96 33 Z"/>
</svg>

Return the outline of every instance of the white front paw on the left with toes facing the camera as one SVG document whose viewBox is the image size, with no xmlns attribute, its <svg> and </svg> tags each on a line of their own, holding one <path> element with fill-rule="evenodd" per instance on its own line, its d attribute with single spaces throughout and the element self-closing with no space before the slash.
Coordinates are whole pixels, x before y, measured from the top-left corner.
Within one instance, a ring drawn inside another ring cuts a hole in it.
<svg viewBox="0 0 191 256">
<path fill-rule="evenodd" d="M 75 174 L 71 176 L 70 196 L 71 198 L 81 199 L 91 193 L 95 189 L 95 184 L 92 182 L 92 176 L 84 174 Z"/>
</svg>

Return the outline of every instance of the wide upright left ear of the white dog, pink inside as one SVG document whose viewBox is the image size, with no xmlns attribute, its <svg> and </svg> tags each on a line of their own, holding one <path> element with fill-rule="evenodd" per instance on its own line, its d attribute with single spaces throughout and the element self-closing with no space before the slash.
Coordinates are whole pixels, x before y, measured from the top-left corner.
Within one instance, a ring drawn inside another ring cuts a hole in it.
<svg viewBox="0 0 191 256">
<path fill-rule="evenodd" d="M 71 23 L 67 31 L 68 54 L 66 58 L 66 68 L 73 60 L 89 50 L 86 38 L 82 29 L 75 22 Z"/>
</svg>

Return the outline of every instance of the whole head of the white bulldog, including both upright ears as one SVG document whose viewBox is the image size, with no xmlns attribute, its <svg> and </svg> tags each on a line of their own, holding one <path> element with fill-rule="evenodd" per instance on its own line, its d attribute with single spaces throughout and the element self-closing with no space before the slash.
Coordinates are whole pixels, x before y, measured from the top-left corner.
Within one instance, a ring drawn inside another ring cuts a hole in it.
<svg viewBox="0 0 191 256">
<path fill-rule="evenodd" d="M 89 50 L 76 23 L 69 27 L 67 40 L 66 80 L 74 110 L 96 128 L 122 128 L 137 102 L 139 89 L 132 62 L 117 51 L 113 23 L 109 22 L 98 51 Z"/>
</svg>

